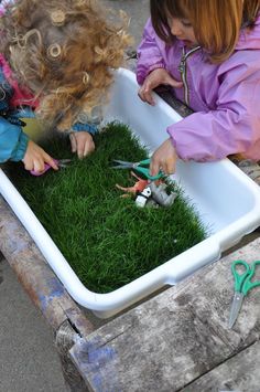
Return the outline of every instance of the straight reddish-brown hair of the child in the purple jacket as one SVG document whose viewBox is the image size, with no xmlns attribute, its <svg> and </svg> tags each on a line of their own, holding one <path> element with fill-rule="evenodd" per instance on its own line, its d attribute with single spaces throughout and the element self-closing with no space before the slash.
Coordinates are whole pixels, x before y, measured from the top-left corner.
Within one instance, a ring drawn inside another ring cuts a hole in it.
<svg viewBox="0 0 260 392">
<path fill-rule="evenodd" d="M 150 0 L 150 9 L 154 30 L 166 43 L 174 39 L 167 15 L 188 19 L 212 62 L 223 62 L 234 52 L 241 27 L 253 27 L 260 0 Z"/>
</svg>

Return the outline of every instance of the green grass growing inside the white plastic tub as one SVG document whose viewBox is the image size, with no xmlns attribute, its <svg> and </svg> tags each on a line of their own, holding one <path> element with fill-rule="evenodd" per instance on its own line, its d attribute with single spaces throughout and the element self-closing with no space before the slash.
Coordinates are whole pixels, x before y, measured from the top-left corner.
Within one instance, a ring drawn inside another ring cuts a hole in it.
<svg viewBox="0 0 260 392">
<path fill-rule="evenodd" d="M 67 168 L 33 177 L 17 163 L 10 172 L 82 283 L 108 293 L 203 241 L 206 230 L 180 189 L 171 208 L 142 209 L 121 198 L 116 183 L 130 187 L 136 179 L 111 169 L 112 160 L 148 157 L 126 125 L 108 125 L 95 141 L 95 153 L 78 160 L 66 138 L 54 138 L 43 147 L 54 158 L 72 158 Z"/>
</svg>

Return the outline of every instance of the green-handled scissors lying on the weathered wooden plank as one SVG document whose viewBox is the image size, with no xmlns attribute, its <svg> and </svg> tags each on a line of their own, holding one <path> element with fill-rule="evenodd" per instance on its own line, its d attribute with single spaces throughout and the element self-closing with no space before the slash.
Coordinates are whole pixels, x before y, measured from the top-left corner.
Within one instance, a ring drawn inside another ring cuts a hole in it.
<svg viewBox="0 0 260 392">
<path fill-rule="evenodd" d="M 239 265 L 246 268 L 242 274 L 239 274 L 237 271 L 237 266 Z M 231 264 L 231 271 L 235 279 L 235 294 L 229 316 L 228 328 L 232 328 L 232 326 L 235 325 L 242 306 L 243 297 L 253 287 L 260 287 L 260 280 L 251 282 L 258 265 L 260 265 L 259 259 L 250 265 L 247 262 L 243 262 L 242 259 L 237 259 Z"/>
</svg>

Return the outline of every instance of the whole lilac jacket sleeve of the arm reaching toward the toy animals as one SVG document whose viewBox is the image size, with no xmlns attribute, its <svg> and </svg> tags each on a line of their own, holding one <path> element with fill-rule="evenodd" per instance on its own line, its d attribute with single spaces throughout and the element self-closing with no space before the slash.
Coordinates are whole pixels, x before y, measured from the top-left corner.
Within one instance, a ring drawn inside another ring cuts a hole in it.
<svg viewBox="0 0 260 392">
<path fill-rule="evenodd" d="M 220 160 L 260 140 L 260 67 L 243 63 L 221 76 L 215 110 L 194 113 L 167 128 L 183 160 Z"/>
</svg>

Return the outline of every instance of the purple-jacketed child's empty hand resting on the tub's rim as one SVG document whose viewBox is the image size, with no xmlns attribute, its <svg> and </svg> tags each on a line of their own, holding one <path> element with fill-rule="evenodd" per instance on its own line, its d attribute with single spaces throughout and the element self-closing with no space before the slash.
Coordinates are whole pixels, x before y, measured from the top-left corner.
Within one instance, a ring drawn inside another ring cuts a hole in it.
<svg viewBox="0 0 260 392">
<path fill-rule="evenodd" d="M 147 76 L 142 87 L 138 92 L 139 97 L 150 105 L 155 105 L 152 97 L 152 91 L 161 84 L 169 85 L 174 88 L 181 88 L 183 86 L 183 83 L 175 81 L 166 70 L 156 68 Z"/>
</svg>

